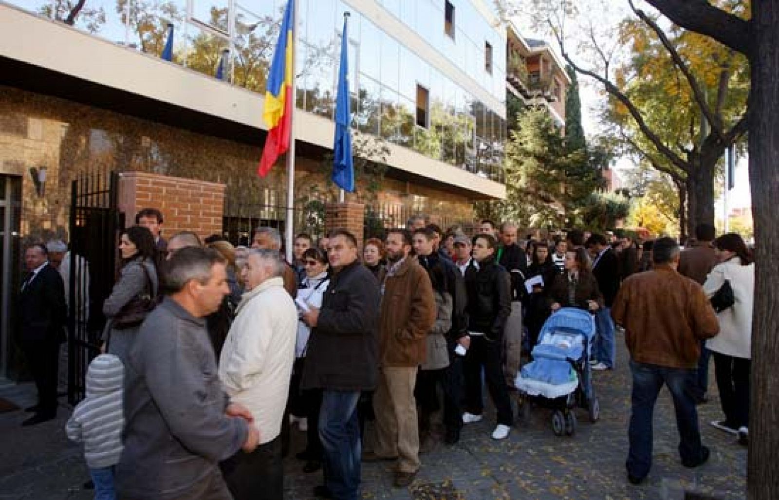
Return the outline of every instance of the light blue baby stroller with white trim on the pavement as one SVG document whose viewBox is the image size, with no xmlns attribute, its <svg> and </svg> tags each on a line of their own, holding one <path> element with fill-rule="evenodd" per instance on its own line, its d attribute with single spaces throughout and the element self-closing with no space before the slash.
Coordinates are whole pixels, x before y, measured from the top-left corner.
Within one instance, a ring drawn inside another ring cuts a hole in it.
<svg viewBox="0 0 779 500">
<path fill-rule="evenodd" d="M 576 407 L 586 408 L 597 421 L 600 406 L 590 377 L 590 350 L 595 322 L 589 312 L 562 308 L 546 320 L 525 364 L 514 382 L 519 392 L 520 417 L 530 417 L 530 401 L 552 407 L 555 435 L 576 433 Z"/>
</svg>

